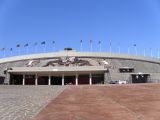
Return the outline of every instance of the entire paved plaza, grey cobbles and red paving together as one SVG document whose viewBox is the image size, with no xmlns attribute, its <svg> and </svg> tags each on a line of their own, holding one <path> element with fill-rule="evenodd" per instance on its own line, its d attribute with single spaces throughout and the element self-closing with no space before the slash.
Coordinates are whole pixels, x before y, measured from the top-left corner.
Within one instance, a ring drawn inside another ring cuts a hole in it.
<svg viewBox="0 0 160 120">
<path fill-rule="evenodd" d="M 0 86 L 0 120 L 159 120 L 160 84 Z"/>
</svg>

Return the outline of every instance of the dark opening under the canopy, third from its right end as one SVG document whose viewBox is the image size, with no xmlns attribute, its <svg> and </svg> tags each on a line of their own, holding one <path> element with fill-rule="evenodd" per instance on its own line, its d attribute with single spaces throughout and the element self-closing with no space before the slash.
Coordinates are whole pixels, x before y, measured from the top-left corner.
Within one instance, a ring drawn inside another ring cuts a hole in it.
<svg viewBox="0 0 160 120">
<path fill-rule="evenodd" d="M 75 85 L 76 77 L 75 76 L 64 76 L 64 84 L 65 85 Z"/>
</svg>

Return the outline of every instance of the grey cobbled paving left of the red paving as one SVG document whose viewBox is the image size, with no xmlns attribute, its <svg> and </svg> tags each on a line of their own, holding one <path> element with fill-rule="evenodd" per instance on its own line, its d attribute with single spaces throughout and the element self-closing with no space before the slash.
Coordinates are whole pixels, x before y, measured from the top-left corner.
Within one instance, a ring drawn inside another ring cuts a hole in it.
<svg viewBox="0 0 160 120">
<path fill-rule="evenodd" d="M 62 86 L 0 86 L 0 120 L 31 120 Z"/>
</svg>

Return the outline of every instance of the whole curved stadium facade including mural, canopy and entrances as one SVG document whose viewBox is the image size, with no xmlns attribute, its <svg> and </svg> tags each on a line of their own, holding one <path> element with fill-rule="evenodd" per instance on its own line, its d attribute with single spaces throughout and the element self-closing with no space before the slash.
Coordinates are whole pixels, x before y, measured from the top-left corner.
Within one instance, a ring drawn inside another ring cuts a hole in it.
<svg viewBox="0 0 160 120">
<path fill-rule="evenodd" d="M 9 85 L 80 85 L 160 82 L 159 59 L 102 52 L 60 52 L 0 59 L 0 83 Z"/>
</svg>

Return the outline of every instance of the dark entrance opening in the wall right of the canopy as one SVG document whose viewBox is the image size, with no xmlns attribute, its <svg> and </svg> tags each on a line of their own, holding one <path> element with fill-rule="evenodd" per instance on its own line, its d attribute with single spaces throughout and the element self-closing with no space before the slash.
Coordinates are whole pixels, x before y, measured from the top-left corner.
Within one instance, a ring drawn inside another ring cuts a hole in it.
<svg viewBox="0 0 160 120">
<path fill-rule="evenodd" d="M 149 74 L 132 75 L 132 83 L 147 83 Z"/>
</svg>

